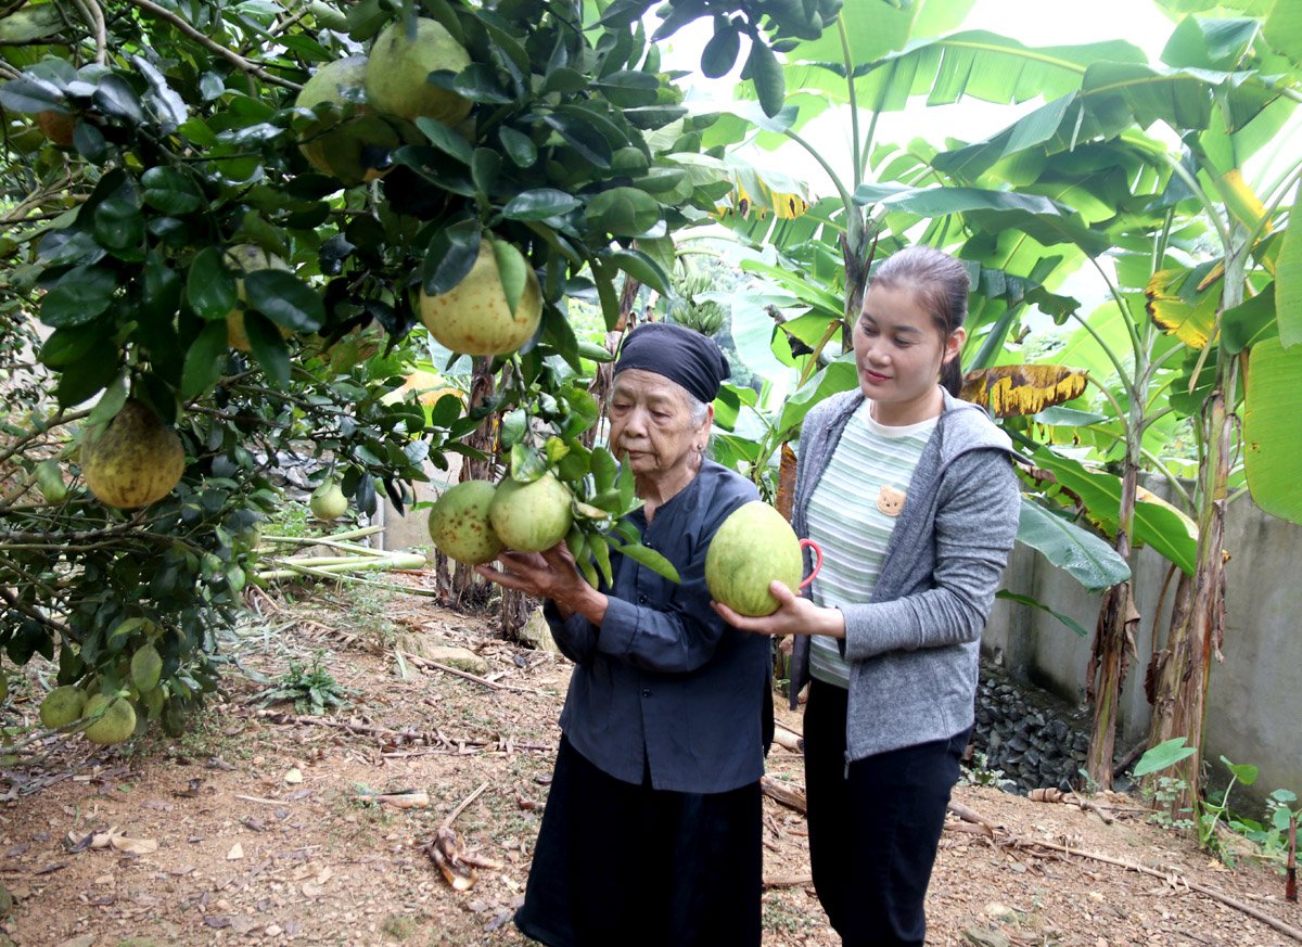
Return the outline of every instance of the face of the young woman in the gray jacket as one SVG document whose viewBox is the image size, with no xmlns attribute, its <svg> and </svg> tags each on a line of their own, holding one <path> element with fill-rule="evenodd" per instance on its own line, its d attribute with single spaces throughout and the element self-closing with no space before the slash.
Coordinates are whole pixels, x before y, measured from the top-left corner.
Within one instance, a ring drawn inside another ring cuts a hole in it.
<svg viewBox="0 0 1302 947">
<path fill-rule="evenodd" d="M 958 358 L 962 343 L 962 329 L 941 336 L 911 287 L 870 286 L 854 327 L 854 363 L 874 418 L 904 425 L 940 414 L 940 367 Z"/>
</svg>

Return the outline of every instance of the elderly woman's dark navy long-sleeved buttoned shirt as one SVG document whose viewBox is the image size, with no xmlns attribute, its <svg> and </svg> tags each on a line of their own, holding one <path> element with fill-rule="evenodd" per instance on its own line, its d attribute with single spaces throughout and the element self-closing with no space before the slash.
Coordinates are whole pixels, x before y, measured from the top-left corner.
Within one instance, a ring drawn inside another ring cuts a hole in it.
<svg viewBox="0 0 1302 947">
<path fill-rule="evenodd" d="M 651 524 L 630 518 L 642 542 L 678 570 L 681 584 L 624 555 L 605 620 L 546 615 L 577 662 L 561 728 L 603 771 L 629 783 L 650 773 L 658 790 L 724 792 L 763 774 L 762 706 L 771 644 L 710 607 L 706 552 L 724 519 L 758 500 L 754 484 L 711 460 L 660 506 Z"/>
</svg>

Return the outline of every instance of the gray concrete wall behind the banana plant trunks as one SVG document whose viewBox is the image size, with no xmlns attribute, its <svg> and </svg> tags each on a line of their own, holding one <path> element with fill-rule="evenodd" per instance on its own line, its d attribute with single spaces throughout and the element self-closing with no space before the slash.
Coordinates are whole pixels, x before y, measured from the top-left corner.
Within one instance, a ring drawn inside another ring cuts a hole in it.
<svg viewBox="0 0 1302 947">
<path fill-rule="evenodd" d="M 1161 492 L 1161 484 L 1148 483 Z M 1246 497 L 1229 507 L 1225 549 L 1226 615 L 1224 661 L 1212 661 L 1208 688 L 1206 760 L 1213 782 L 1225 773 L 1221 754 L 1260 767 L 1243 796 L 1264 799 L 1272 790 L 1302 795 L 1302 527 L 1267 516 Z M 1144 739 L 1150 706 L 1144 671 L 1154 648 L 1154 617 L 1168 565 L 1141 549 L 1131 557 L 1141 627 L 1118 706 L 1118 752 Z M 1070 576 L 1034 550 L 1018 546 L 1004 585 L 1030 594 L 1069 615 L 1092 636 L 1101 596 L 1087 594 Z M 1164 639 L 1174 579 L 1161 604 L 1159 641 Z M 1090 637 L 1079 637 L 1040 609 L 996 601 L 983 649 L 1009 674 L 1083 702 Z M 1238 797 L 1241 790 L 1236 788 Z"/>
</svg>

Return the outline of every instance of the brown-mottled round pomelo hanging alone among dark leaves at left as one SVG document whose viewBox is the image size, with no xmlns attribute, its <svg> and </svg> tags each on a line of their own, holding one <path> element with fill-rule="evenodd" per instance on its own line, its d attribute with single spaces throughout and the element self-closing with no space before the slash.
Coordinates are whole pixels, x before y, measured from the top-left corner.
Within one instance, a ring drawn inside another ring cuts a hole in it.
<svg viewBox="0 0 1302 947">
<path fill-rule="evenodd" d="M 82 476 L 95 498 L 134 510 L 161 500 L 185 472 L 185 447 L 148 405 L 134 398 L 82 444 Z"/>
</svg>

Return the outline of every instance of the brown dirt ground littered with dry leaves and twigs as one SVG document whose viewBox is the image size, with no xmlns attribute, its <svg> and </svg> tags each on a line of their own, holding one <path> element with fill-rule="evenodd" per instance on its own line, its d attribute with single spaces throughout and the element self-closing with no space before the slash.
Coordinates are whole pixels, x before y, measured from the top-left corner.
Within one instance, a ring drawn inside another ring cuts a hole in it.
<svg viewBox="0 0 1302 947">
<path fill-rule="evenodd" d="M 568 662 L 495 639 L 490 620 L 431 598 L 299 598 L 259 600 L 264 620 L 223 652 L 228 695 L 182 738 L 109 752 L 52 739 L 38 764 L 0 767 L 0 885 L 14 899 L 0 930 L 13 943 L 525 943 L 510 916 Z M 434 639 L 475 650 L 488 673 L 477 682 L 397 658 Z M 263 708 L 259 695 L 290 661 L 327 669 L 349 705 L 324 715 Z M 7 726 L 35 715 L 33 693 L 10 699 Z M 780 713 L 799 730 L 798 715 Z M 801 787 L 796 752 L 775 747 L 768 771 Z M 426 808 L 404 808 L 410 795 L 374 799 L 422 791 Z M 928 943 L 1302 939 L 1302 911 L 1284 901 L 1276 870 L 1211 860 L 1151 825 L 1134 799 L 1099 796 L 1091 809 L 961 786 L 954 801 L 969 818 L 953 818 L 941 843 Z M 764 944 L 833 947 L 809 883 L 803 816 L 773 799 L 764 808 Z M 453 816 L 454 844 L 486 865 L 467 890 L 423 848 Z"/>
</svg>

